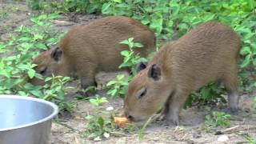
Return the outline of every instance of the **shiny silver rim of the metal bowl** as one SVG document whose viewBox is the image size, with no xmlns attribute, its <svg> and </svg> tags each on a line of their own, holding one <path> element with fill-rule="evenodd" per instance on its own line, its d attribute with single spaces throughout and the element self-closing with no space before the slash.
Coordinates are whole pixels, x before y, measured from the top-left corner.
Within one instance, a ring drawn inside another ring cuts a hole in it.
<svg viewBox="0 0 256 144">
<path fill-rule="evenodd" d="M 0 128 L 0 132 L 1 131 L 6 131 L 6 130 L 16 130 L 16 129 L 20 129 L 20 128 L 24 128 L 24 127 L 34 126 L 34 125 L 37 125 L 39 123 L 51 120 L 52 118 L 54 118 L 55 115 L 58 114 L 58 106 L 56 106 L 53 102 L 48 102 L 48 101 L 43 100 L 43 99 L 31 98 L 31 97 L 28 97 L 28 96 L 8 95 L 8 94 L 0 94 L 0 99 L 1 98 L 26 99 L 26 100 L 30 100 L 30 101 L 34 101 L 34 102 L 41 102 L 41 103 L 44 103 L 46 105 L 51 106 L 54 109 L 54 111 L 53 111 L 52 114 L 50 114 L 46 118 L 42 118 L 42 119 L 40 119 L 38 121 L 35 121 L 35 122 L 30 122 L 30 123 L 20 125 L 20 126 L 13 126 L 13 127 L 10 127 L 10 128 L 4 128 L 4 129 Z"/>
</svg>

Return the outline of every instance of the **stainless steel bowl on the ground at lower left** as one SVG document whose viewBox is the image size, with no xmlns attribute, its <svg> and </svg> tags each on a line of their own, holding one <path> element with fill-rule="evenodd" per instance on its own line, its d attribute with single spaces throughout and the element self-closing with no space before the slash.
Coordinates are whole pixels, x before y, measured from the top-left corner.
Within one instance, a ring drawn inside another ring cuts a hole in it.
<svg viewBox="0 0 256 144">
<path fill-rule="evenodd" d="M 0 94 L 0 143 L 46 144 L 58 106 L 38 98 Z"/>
</svg>

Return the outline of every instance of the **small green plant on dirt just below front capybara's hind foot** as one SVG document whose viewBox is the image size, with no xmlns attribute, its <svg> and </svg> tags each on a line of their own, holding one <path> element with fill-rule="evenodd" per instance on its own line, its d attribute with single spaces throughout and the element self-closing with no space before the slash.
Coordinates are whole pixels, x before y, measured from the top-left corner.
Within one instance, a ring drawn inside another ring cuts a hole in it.
<svg viewBox="0 0 256 144">
<path fill-rule="evenodd" d="M 203 129 L 207 132 L 216 130 L 217 126 L 229 127 L 230 126 L 230 114 L 224 112 L 214 111 L 212 114 L 206 115 L 205 125 Z"/>
</svg>

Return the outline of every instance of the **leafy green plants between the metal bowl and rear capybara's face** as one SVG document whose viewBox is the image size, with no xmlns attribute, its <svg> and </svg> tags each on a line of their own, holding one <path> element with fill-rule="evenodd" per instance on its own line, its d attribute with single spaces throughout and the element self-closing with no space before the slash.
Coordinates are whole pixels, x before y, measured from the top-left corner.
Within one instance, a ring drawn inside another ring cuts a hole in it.
<svg viewBox="0 0 256 144">
<path fill-rule="evenodd" d="M 13 37 L 6 42 L 0 42 L 0 94 L 19 94 L 34 96 L 56 103 L 61 111 L 72 110 L 74 103 L 64 102 L 64 95 L 70 87 L 65 86 L 70 78 L 53 76 L 46 78 L 45 86 L 33 86 L 28 78 L 41 78 L 36 74 L 31 59 L 40 50 L 58 42 L 62 37 L 50 20 L 58 18 L 58 14 L 40 14 L 30 18 L 32 26 L 19 26 Z"/>
</svg>

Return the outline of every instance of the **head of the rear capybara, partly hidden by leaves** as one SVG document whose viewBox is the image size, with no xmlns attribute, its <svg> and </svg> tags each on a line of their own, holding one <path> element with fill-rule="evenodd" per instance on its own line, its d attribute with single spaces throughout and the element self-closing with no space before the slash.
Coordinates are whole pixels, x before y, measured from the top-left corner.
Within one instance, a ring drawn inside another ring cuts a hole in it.
<svg viewBox="0 0 256 144">
<path fill-rule="evenodd" d="M 34 70 L 43 77 L 50 77 L 52 74 L 67 74 L 68 69 L 62 64 L 62 50 L 59 47 L 42 52 L 34 58 L 32 63 L 37 65 Z M 32 78 L 29 82 L 34 85 L 44 84 L 44 81 L 38 78 Z"/>
</svg>

